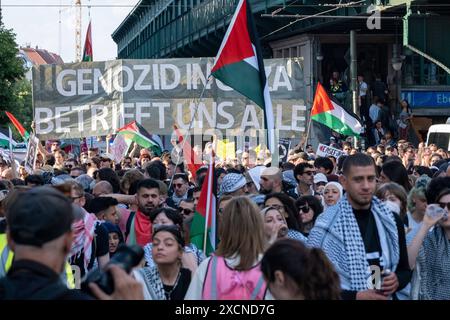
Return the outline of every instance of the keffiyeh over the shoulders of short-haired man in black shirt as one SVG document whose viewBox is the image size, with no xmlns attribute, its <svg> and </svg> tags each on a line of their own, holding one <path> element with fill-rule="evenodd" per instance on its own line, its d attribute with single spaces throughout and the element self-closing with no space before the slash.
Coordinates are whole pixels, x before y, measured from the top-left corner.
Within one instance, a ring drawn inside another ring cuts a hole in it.
<svg viewBox="0 0 450 320">
<path fill-rule="evenodd" d="M 376 197 L 371 210 L 380 238 L 384 269 L 395 271 L 400 259 L 398 230 L 392 212 Z M 343 290 L 367 290 L 371 269 L 364 241 L 347 197 L 321 214 L 308 237 L 310 247 L 322 248 L 339 274 Z"/>
</svg>

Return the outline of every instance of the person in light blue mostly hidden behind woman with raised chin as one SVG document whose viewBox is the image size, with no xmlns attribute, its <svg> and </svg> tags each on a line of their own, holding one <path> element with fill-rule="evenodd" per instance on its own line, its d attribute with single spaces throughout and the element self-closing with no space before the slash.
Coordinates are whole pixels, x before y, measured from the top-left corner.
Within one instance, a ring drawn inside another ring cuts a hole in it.
<svg viewBox="0 0 450 320">
<path fill-rule="evenodd" d="M 170 208 L 160 208 L 150 213 L 150 221 L 152 223 L 153 230 L 159 226 L 176 226 L 184 236 L 183 232 L 183 217 L 179 212 Z M 148 267 L 155 266 L 155 260 L 153 257 L 153 243 L 148 243 L 144 246 L 144 259 L 145 264 Z M 194 244 L 190 243 L 184 246 L 184 252 L 182 255 L 183 266 L 195 271 L 198 265 L 205 259 L 205 255 Z"/>
</svg>

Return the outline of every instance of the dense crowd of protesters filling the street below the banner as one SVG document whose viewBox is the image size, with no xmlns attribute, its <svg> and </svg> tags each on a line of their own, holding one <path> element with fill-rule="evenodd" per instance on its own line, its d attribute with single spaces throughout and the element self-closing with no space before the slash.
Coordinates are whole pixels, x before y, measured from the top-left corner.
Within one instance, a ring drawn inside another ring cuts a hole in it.
<svg viewBox="0 0 450 320">
<path fill-rule="evenodd" d="M 278 166 L 251 149 L 216 159 L 211 255 L 190 237 L 211 143 L 196 172 L 177 141 L 119 163 L 54 141 L 32 174 L 3 159 L 0 299 L 450 299 L 447 151 L 378 137 L 362 152 L 333 138 L 339 159 L 310 145 Z M 129 275 L 108 264 L 124 244 L 145 252 Z M 73 266 L 109 268 L 116 291 L 82 293 Z"/>
</svg>

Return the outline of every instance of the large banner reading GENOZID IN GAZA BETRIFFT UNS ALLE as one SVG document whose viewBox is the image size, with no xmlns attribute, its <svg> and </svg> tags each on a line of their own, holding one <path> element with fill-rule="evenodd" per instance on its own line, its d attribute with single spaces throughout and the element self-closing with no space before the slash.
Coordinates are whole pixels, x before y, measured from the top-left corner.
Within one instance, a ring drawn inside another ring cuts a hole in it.
<svg viewBox="0 0 450 320">
<path fill-rule="evenodd" d="M 263 111 L 211 78 L 212 58 L 114 60 L 33 68 L 36 134 L 40 139 L 106 136 L 136 120 L 152 134 L 173 125 L 192 130 L 263 129 Z M 305 131 L 300 59 L 269 59 L 266 74 L 280 137 Z M 204 99 L 196 101 L 204 91 Z"/>
</svg>

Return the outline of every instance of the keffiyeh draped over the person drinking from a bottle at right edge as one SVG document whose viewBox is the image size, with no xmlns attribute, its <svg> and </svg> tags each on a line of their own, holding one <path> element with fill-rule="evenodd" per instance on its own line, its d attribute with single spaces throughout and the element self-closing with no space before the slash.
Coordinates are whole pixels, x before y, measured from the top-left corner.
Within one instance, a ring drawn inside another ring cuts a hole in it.
<svg viewBox="0 0 450 320">
<path fill-rule="evenodd" d="M 450 242 L 441 226 L 425 237 L 416 259 L 412 298 L 450 300 Z"/>
</svg>

